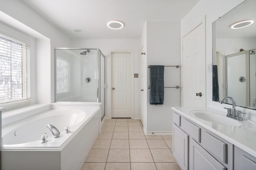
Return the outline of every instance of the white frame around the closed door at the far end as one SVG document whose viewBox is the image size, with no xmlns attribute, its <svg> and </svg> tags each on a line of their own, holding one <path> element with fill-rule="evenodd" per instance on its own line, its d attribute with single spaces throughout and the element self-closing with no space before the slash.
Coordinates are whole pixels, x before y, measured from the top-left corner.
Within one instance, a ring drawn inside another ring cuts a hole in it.
<svg viewBox="0 0 256 170">
<path fill-rule="evenodd" d="M 130 53 L 131 55 L 131 118 L 134 119 L 134 51 L 110 51 L 110 115 L 109 119 L 112 118 L 112 54 L 114 53 Z"/>
</svg>

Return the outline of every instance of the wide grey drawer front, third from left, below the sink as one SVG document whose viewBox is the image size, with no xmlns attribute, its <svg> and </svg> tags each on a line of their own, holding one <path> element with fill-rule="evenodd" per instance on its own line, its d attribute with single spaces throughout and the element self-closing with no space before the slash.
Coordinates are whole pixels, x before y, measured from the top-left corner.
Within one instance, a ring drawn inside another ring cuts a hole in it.
<svg viewBox="0 0 256 170">
<path fill-rule="evenodd" d="M 202 132 L 202 145 L 222 162 L 228 162 L 228 144 L 225 142 L 204 131 Z"/>
</svg>

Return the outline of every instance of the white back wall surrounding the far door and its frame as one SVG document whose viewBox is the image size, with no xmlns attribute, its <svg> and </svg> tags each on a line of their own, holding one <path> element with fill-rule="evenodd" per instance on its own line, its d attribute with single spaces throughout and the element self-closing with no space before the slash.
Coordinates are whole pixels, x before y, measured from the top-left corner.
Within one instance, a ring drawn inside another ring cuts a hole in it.
<svg viewBox="0 0 256 170">
<path fill-rule="evenodd" d="M 134 51 L 134 73 L 140 71 L 140 40 L 139 39 L 72 39 L 71 47 L 99 48 L 105 55 L 105 110 L 106 117 L 110 117 L 110 52 Z M 140 117 L 140 81 L 134 78 L 134 117 Z"/>
</svg>

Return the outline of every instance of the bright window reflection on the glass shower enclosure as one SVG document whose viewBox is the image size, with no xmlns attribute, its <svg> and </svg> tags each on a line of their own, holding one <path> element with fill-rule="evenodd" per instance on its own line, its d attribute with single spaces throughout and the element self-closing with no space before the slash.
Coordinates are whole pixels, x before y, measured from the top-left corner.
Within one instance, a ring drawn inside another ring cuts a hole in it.
<svg viewBox="0 0 256 170">
<path fill-rule="evenodd" d="M 65 59 L 56 58 L 57 94 L 69 92 L 69 70 L 70 64 Z"/>
</svg>

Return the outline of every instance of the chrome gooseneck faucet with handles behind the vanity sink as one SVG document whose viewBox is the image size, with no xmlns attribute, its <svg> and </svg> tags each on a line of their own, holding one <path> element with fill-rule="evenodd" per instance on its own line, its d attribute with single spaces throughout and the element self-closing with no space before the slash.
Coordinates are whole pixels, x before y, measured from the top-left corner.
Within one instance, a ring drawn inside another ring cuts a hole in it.
<svg viewBox="0 0 256 170">
<path fill-rule="evenodd" d="M 236 110 L 236 102 L 235 102 L 235 100 L 232 97 L 225 96 L 224 98 L 222 98 L 220 100 L 220 104 L 223 104 L 224 100 L 226 100 L 226 99 L 230 99 L 232 101 L 232 110 L 231 110 L 231 108 L 224 107 L 225 109 L 228 109 L 227 117 L 230 117 L 232 119 L 236 119 L 236 120 L 241 120 L 242 121 L 243 120 L 242 113 L 243 114 L 247 114 L 247 113 L 244 113 L 244 112 L 242 112 L 240 110 Z"/>
</svg>

